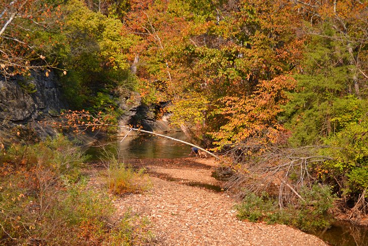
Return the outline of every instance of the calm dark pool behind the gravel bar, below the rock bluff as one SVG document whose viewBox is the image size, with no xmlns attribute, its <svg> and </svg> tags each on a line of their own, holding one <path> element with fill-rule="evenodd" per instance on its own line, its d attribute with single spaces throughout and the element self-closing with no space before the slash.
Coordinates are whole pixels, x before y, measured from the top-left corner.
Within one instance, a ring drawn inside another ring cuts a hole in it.
<svg viewBox="0 0 368 246">
<path fill-rule="evenodd" d="M 167 136 L 188 141 L 182 132 L 165 134 Z M 92 156 L 92 160 L 98 160 L 101 152 L 107 150 L 114 154 L 119 154 L 120 159 L 145 159 L 145 158 L 183 158 L 191 153 L 189 145 L 155 135 L 140 134 L 138 136 L 128 136 L 120 142 L 122 138 L 104 141 L 91 146 L 86 154 Z"/>
</svg>

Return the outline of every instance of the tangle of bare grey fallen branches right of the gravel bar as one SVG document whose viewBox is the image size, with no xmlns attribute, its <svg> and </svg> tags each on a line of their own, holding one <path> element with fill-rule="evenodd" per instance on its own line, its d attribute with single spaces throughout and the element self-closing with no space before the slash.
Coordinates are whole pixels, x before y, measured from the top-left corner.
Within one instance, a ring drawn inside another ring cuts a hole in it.
<svg viewBox="0 0 368 246">
<path fill-rule="evenodd" d="M 234 161 L 232 166 L 241 166 L 229 177 L 227 187 L 243 196 L 249 190 L 260 193 L 267 191 L 278 195 L 279 206 L 304 201 L 300 190 L 316 184 L 315 167 L 318 163 L 332 160 L 329 156 L 318 155 L 324 145 L 311 145 L 299 148 L 281 146 L 263 147 L 261 145 L 237 145 L 226 156 Z M 236 163 L 236 164 L 235 164 Z M 240 188 L 241 187 L 241 188 Z"/>
</svg>

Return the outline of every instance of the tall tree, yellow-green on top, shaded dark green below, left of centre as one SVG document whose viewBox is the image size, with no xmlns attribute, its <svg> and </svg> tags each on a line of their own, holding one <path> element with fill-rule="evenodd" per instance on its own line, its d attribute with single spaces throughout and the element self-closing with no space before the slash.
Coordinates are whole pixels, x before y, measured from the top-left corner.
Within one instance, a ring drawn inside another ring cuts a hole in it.
<svg viewBox="0 0 368 246">
<path fill-rule="evenodd" d="M 112 114 L 118 117 L 121 112 L 116 110 L 116 94 L 112 91 L 118 86 L 131 90 L 136 87 L 128 62 L 129 48 L 136 40 L 124 32 L 120 20 L 95 13 L 81 1 L 68 2 L 66 10 L 68 54 L 63 66 L 69 73 L 63 83 L 72 109 L 113 108 Z"/>
</svg>

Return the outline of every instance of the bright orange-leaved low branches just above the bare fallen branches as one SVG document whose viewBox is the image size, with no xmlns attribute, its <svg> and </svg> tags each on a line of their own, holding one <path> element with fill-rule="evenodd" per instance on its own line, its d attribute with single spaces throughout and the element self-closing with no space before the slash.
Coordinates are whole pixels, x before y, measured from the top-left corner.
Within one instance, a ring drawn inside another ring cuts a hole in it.
<svg viewBox="0 0 368 246">
<path fill-rule="evenodd" d="M 224 97 L 220 100 L 223 107 L 216 112 L 227 119 L 227 123 L 211 136 L 220 150 L 226 145 L 237 143 L 259 145 L 266 148 L 276 143 L 285 128 L 277 122 L 282 105 L 288 102 L 285 90 L 293 89 L 295 80 L 280 75 L 272 80 L 261 81 L 257 90 L 249 97 Z"/>
</svg>

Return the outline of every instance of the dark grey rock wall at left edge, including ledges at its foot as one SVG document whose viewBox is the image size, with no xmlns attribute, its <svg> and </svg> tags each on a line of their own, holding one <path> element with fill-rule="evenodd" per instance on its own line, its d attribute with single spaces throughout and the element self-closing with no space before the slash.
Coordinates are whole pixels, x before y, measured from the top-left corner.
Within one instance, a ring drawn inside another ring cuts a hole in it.
<svg viewBox="0 0 368 246">
<path fill-rule="evenodd" d="M 53 72 L 33 71 L 29 77 L 0 76 L 0 143 L 17 141 L 16 133 L 22 132 L 32 138 L 45 138 L 56 134 L 50 125 L 38 121 L 50 121 L 68 105 L 61 99 L 61 86 Z M 12 140 L 13 139 L 13 140 Z"/>
</svg>

